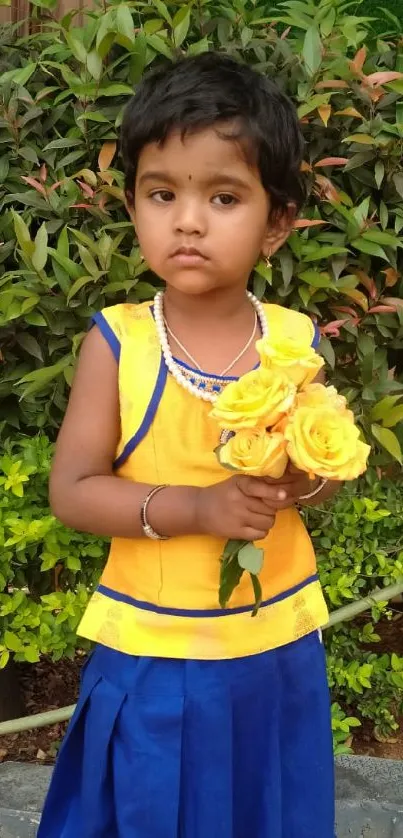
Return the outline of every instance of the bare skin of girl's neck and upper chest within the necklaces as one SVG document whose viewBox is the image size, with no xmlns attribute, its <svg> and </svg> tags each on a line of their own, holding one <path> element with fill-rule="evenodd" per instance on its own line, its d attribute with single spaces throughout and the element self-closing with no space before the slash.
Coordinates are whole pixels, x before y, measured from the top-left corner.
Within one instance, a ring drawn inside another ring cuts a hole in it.
<svg viewBox="0 0 403 838">
<path fill-rule="evenodd" d="M 247 343 L 255 320 L 254 309 L 242 288 L 206 295 L 183 294 L 168 288 L 164 297 L 164 314 L 170 329 L 201 369 L 216 375 L 236 358 Z M 256 365 L 255 343 L 260 336 L 258 326 L 248 351 L 231 369 L 230 375 L 243 375 Z M 170 345 L 176 358 L 190 363 L 172 338 Z"/>
</svg>

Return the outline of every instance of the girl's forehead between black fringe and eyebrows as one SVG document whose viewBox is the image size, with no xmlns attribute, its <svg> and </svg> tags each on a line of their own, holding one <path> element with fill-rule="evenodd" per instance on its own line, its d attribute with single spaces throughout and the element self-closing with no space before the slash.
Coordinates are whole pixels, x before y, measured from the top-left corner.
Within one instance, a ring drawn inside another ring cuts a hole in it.
<svg viewBox="0 0 403 838">
<path fill-rule="evenodd" d="M 179 130 L 173 131 L 164 143 L 148 143 L 141 151 L 137 175 L 149 169 L 185 178 L 191 175 L 195 180 L 218 171 L 260 183 L 259 171 L 248 161 L 244 143 L 231 137 L 228 125 L 189 132 L 184 137 Z"/>
</svg>

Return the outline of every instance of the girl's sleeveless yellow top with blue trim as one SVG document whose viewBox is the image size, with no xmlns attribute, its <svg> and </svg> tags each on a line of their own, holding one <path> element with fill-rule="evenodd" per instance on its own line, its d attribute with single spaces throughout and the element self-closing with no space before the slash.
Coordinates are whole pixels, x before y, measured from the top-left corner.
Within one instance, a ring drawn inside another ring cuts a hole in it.
<svg viewBox="0 0 403 838">
<path fill-rule="evenodd" d="M 271 332 L 297 330 L 314 342 L 315 328 L 305 315 L 272 305 L 265 313 Z M 220 431 L 209 416 L 211 405 L 168 374 L 151 304 L 112 306 L 94 321 L 119 364 L 118 476 L 194 486 L 226 480 L 214 454 Z M 208 386 L 220 383 L 211 376 Z M 268 537 L 258 542 L 265 550 L 263 604 L 254 618 L 247 574 L 230 607 L 219 607 L 224 543 L 212 536 L 114 538 L 79 634 L 133 655 L 223 659 L 276 648 L 327 622 L 312 544 L 295 508 L 279 512 Z"/>
</svg>

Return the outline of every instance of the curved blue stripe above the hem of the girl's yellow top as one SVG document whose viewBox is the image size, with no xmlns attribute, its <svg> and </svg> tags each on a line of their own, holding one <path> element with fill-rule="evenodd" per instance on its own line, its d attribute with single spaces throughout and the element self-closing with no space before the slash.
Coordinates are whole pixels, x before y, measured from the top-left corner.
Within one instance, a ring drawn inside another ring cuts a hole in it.
<svg viewBox="0 0 403 838">
<path fill-rule="evenodd" d="M 274 605 L 276 602 L 281 602 L 283 599 L 287 599 L 287 597 L 297 594 L 298 591 L 301 591 L 312 582 L 317 581 L 318 575 L 317 573 L 314 573 L 313 576 L 309 576 L 308 579 L 305 579 L 298 585 L 294 585 L 294 587 L 289 588 L 288 591 L 284 591 L 282 594 L 277 594 L 277 596 L 274 596 L 271 599 L 266 599 L 262 602 L 260 607 L 265 608 L 267 605 Z M 128 596 L 127 594 L 121 594 L 118 591 L 114 591 L 112 588 L 107 588 L 106 585 L 98 585 L 97 591 L 100 594 L 110 597 L 110 599 L 114 599 L 116 602 L 124 602 L 126 605 L 134 605 L 136 608 L 141 608 L 143 611 L 152 611 L 153 614 L 166 614 L 171 617 L 226 617 L 229 614 L 247 614 L 248 612 L 253 611 L 255 607 L 253 604 L 240 605 L 237 608 L 166 608 L 163 605 L 154 605 L 151 602 L 143 602 L 142 600 L 134 599 L 134 597 Z"/>
</svg>

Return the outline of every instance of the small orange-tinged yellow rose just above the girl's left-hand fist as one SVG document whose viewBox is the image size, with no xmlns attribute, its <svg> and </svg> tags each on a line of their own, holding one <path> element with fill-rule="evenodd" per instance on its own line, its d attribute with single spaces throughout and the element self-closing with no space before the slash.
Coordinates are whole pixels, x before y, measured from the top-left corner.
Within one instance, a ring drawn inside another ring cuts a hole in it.
<svg viewBox="0 0 403 838">
<path fill-rule="evenodd" d="M 269 434 L 262 428 L 238 431 L 219 449 L 221 465 L 253 477 L 283 476 L 288 463 L 282 434 Z"/>
</svg>

